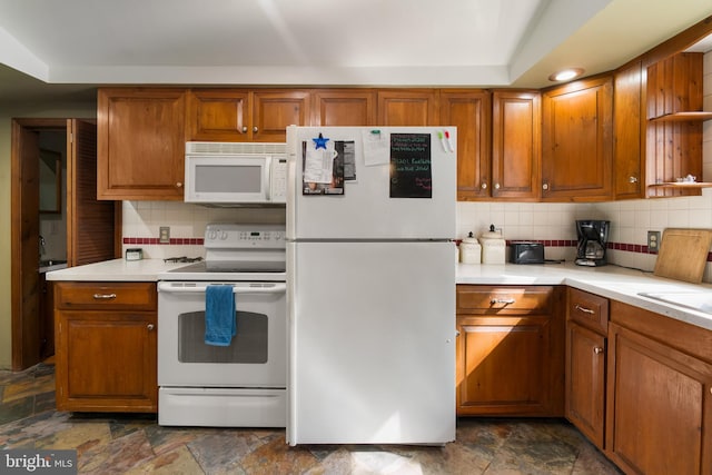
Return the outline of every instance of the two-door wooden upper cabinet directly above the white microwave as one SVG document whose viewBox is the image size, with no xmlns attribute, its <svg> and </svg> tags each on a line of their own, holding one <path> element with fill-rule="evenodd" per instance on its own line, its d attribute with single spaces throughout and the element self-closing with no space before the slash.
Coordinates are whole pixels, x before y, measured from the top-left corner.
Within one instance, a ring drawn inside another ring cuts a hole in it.
<svg viewBox="0 0 712 475">
<path fill-rule="evenodd" d="M 285 141 L 287 126 L 309 123 L 309 102 L 303 90 L 192 89 L 186 135 L 196 141 Z"/>
</svg>

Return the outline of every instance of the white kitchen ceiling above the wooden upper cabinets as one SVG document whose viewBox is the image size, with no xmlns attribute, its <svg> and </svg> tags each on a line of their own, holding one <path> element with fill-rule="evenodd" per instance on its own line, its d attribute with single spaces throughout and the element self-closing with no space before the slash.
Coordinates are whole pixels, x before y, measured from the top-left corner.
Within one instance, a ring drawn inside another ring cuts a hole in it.
<svg viewBox="0 0 712 475">
<path fill-rule="evenodd" d="M 542 88 L 710 16 L 710 0 L 0 0 L 0 102 L 106 85 Z"/>
</svg>

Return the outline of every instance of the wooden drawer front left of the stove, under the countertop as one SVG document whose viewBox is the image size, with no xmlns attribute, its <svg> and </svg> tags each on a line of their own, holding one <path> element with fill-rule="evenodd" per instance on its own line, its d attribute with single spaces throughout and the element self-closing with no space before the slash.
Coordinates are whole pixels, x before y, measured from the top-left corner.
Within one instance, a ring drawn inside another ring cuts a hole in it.
<svg viewBox="0 0 712 475">
<path fill-rule="evenodd" d="M 156 310 L 155 283 L 55 283 L 55 306 L 61 309 Z"/>
</svg>

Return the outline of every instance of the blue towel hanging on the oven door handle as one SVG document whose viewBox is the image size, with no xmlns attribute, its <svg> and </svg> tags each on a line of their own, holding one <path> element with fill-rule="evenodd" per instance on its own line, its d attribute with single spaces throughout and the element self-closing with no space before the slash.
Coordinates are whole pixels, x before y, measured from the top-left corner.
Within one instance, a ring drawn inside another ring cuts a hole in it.
<svg viewBox="0 0 712 475">
<path fill-rule="evenodd" d="M 231 285 L 208 285 L 205 291 L 205 343 L 230 346 L 237 333 Z"/>
</svg>

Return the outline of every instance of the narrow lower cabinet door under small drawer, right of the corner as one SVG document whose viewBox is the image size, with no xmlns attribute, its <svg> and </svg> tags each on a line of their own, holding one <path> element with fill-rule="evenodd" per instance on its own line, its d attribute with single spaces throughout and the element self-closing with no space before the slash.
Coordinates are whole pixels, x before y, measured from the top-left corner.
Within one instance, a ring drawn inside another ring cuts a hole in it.
<svg viewBox="0 0 712 475">
<path fill-rule="evenodd" d="M 566 418 L 603 449 L 605 337 L 566 324 Z"/>
</svg>

